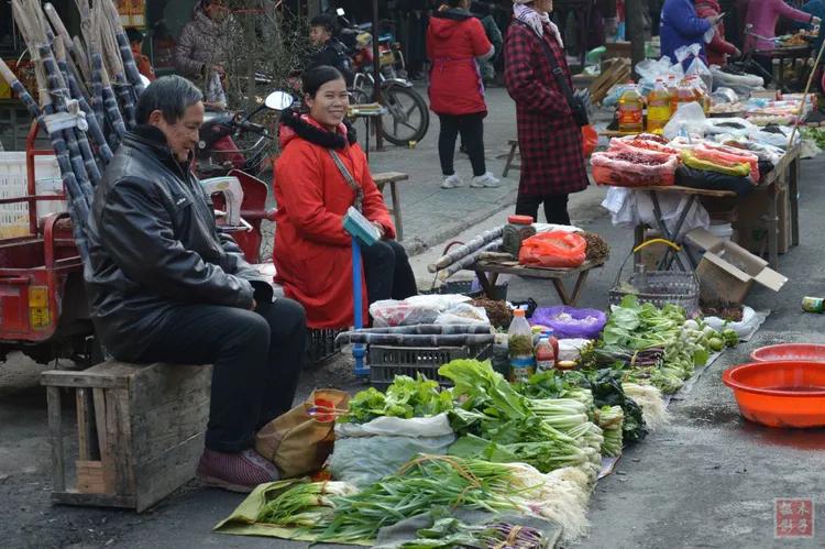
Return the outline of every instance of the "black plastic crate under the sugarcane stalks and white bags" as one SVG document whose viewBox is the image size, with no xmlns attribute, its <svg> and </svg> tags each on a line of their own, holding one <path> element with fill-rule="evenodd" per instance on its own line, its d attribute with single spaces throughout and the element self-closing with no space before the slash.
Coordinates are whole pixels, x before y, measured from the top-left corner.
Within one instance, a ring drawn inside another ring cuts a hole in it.
<svg viewBox="0 0 825 549">
<path fill-rule="evenodd" d="M 424 374 L 428 380 L 435 380 L 444 387 L 452 386 L 452 382 L 438 375 L 438 369 L 457 359 L 484 360 L 490 356 L 493 345 L 464 347 L 389 347 L 370 345 L 367 359 L 370 363 L 370 383 L 384 388 L 392 385 L 396 375 Z"/>
</svg>

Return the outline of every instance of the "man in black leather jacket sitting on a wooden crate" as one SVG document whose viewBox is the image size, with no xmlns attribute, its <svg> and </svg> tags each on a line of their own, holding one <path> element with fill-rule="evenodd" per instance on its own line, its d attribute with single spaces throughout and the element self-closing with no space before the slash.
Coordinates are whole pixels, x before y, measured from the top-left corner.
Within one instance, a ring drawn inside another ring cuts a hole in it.
<svg viewBox="0 0 825 549">
<path fill-rule="evenodd" d="M 292 407 L 304 309 L 274 299 L 270 282 L 216 228 L 189 171 L 200 90 L 160 78 L 141 96 L 136 119 L 95 191 L 85 270 L 91 317 L 118 360 L 213 364 L 198 476 L 248 492 L 278 477 L 251 448 L 257 429 Z"/>
</svg>

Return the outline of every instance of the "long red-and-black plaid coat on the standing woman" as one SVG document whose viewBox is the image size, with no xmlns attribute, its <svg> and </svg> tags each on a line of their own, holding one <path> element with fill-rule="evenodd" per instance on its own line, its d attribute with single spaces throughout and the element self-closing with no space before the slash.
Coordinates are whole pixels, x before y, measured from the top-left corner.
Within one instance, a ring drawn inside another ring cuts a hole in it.
<svg viewBox="0 0 825 549">
<path fill-rule="evenodd" d="M 541 40 L 552 48 L 556 63 L 573 89 L 564 52 L 550 28 L 546 24 L 544 35 L 539 37 L 532 29 L 513 22 L 504 43 L 504 76 L 507 91 L 516 101 L 521 154 L 518 193 L 527 196 L 576 193 L 588 184 L 582 130 L 553 77 Z"/>
</svg>

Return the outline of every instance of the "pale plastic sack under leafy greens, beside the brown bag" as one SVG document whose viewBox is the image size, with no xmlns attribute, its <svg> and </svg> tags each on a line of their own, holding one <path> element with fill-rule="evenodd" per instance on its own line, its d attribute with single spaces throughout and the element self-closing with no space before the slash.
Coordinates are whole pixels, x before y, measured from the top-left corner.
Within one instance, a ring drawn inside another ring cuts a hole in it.
<svg viewBox="0 0 825 549">
<path fill-rule="evenodd" d="M 336 480 L 356 486 L 395 473 L 419 453 L 446 454 L 455 442 L 447 414 L 402 419 L 378 417 L 363 425 L 336 425 L 329 468 Z"/>
</svg>

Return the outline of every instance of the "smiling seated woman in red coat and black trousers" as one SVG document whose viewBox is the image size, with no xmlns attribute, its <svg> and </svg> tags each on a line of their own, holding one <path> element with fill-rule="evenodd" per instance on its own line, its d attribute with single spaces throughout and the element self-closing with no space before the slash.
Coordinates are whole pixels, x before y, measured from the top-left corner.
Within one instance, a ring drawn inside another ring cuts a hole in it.
<svg viewBox="0 0 825 549">
<path fill-rule="evenodd" d="M 344 122 L 349 97 L 337 69 L 304 73 L 306 114 L 285 111 L 280 156 L 275 163 L 275 281 L 307 310 L 310 328 L 353 323 L 352 239 L 343 229 L 350 206 L 373 222 L 383 239 L 362 246 L 364 318 L 367 304 L 416 295 L 416 279 L 384 197 L 370 175 L 353 129 Z M 352 183 L 336 163 L 341 161 Z"/>
</svg>

